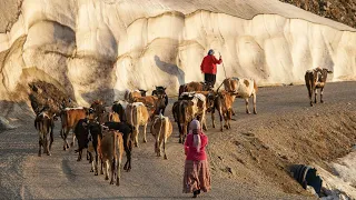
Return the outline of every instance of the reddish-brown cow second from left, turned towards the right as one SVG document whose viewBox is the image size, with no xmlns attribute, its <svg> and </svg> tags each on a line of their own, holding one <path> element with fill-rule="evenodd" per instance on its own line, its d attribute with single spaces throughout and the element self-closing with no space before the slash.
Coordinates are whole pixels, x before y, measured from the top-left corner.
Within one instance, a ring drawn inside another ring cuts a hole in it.
<svg viewBox="0 0 356 200">
<path fill-rule="evenodd" d="M 68 142 L 67 142 L 67 137 L 70 130 L 73 130 L 80 119 L 85 119 L 87 114 L 89 113 L 88 108 L 67 108 L 61 111 L 60 113 L 60 119 L 61 119 L 61 130 L 60 130 L 60 136 L 63 139 L 63 150 L 66 151 L 69 149 Z M 76 134 L 73 132 L 73 138 L 72 142 L 70 146 L 72 147 L 76 141 Z"/>
</svg>

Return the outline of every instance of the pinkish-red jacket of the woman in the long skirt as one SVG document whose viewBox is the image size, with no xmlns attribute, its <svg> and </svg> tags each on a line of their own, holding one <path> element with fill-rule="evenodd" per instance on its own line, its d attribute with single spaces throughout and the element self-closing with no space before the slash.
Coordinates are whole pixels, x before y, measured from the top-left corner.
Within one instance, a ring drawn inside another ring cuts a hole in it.
<svg viewBox="0 0 356 200">
<path fill-rule="evenodd" d="M 208 144 L 208 137 L 200 132 L 200 151 L 197 152 L 197 148 L 194 147 L 194 136 L 189 133 L 185 142 L 185 153 L 187 156 L 186 160 L 206 160 L 207 154 L 205 152 L 205 147 Z"/>
</svg>

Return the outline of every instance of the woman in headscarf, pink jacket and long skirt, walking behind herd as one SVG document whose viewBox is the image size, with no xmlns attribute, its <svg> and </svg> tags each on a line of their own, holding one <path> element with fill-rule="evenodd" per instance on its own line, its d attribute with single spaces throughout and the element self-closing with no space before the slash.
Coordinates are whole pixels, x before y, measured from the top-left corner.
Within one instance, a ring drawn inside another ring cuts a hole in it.
<svg viewBox="0 0 356 200">
<path fill-rule="evenodd" d="M 189 134 L 185 142 L 185 177 L 184 193 L 191 193 L 197 198 L 200 191 L 210 190 L 210 171 L 207 154 L 205 151 L 208 144 L 208 137 L 204 134 L 198 120 L 192 120 L 189 124 Z"/>
</svg>

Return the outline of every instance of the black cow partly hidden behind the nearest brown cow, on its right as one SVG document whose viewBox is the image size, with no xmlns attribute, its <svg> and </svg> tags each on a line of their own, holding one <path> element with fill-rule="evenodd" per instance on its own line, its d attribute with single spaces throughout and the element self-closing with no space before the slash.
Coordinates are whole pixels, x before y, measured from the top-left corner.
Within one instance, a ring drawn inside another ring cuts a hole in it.
<svg viewBox="0 0 356 200">
<path fill-rule="evenodd" d="M 134 127 L 126 122 L 106 122 L 105 127 L 109 128 L 109 130 L 117 130 L 122 133 L 123 138 L 123 149 L 126 152 L 127 161 L 123 166 L 126 171 L 131 170 L 131 152 L 132 152 L 132 131 Z"/>
</svg>

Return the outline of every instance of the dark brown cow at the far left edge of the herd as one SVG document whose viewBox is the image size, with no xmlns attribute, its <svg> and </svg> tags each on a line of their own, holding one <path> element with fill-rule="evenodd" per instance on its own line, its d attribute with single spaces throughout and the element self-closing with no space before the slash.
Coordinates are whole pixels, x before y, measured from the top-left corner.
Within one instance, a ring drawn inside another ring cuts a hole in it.
<svg viewBox="0 0 356 200">
<path fill-rule="evenodd" d="M 51 156 L 50 150 L 53 143 L 55 116 L 56 114 L 49 111 L 42 111 L 34 119 L 34 128 L 38 130 L 39 136 L 39 157 L 41 157 L 41 147 L 43 148 L 43 153 Z"/>
</svg>

